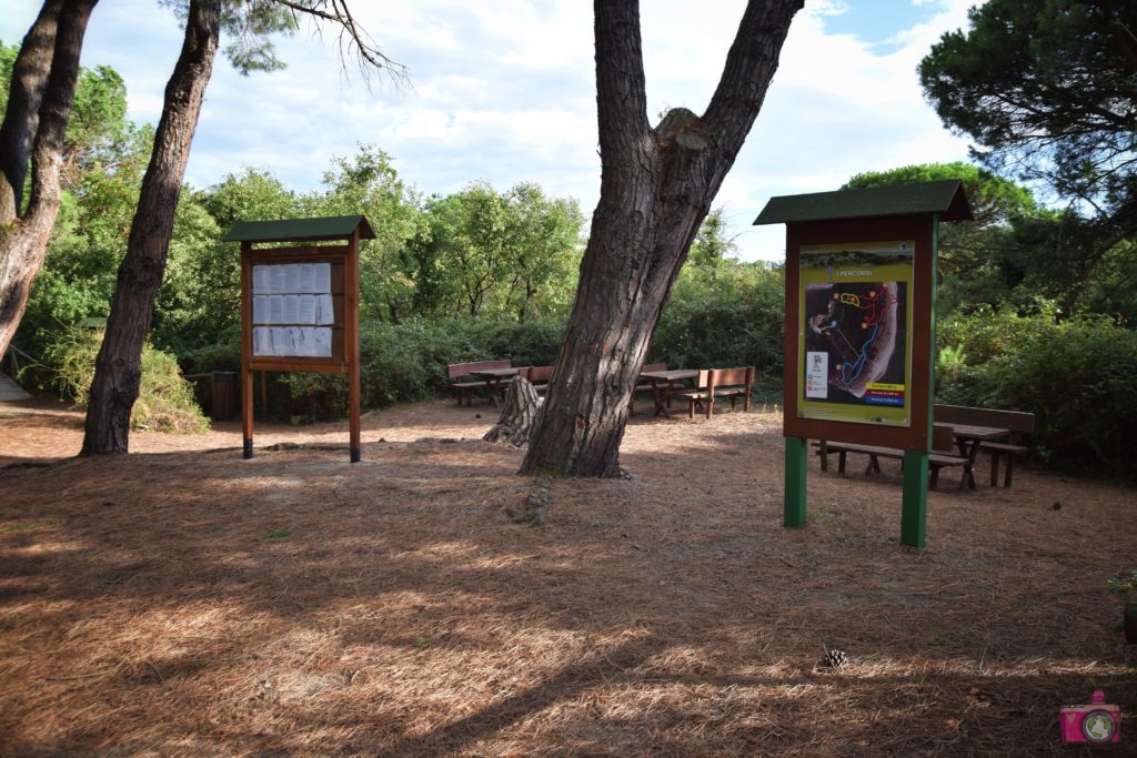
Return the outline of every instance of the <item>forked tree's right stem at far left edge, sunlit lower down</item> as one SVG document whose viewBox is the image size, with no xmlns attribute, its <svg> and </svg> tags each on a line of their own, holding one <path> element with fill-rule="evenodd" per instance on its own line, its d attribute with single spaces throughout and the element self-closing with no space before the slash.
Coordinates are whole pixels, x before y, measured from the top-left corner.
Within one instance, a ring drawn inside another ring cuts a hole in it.
<svg viewBox="0 0 1137 758">
<path fill-rule="evenodd" d="M 0 223 L 0 355 L 8 349 L 27 308 L 27 294 L 43 266 L 51 228 L 59 211 L 63 199 L 59 173 L 67 118 L 75 98 L 83 35 L 97 1 L 67 0 L 57 3 L 53 14 L 45 5 L 24 40 L 25 44 L 32 44 L 34 55 L 25 60 L 23 72 L 13 74 L 16 113 L 11 111 L 13 103 L 9 102 L 3 123 L 6 142 L 0 144 L 3 170 L 0 185 L 15 188 L 15 192 L 7 200 L 0 198 L 0 205 L 7 202 L 18 208 L 27 164 L 24 144 L 32 139 L 31 132 L 22 134 L 22 130 L 34 130 L 35 139 L 32 149 L 32 195 L 27 211 L 23 218 L 13 215 Z M 50 53 L 44 52 L 44 45 L 51 45 Z M 22 57 L 23 51 L 17 57 L 17 68 Z M 38 83 L 44 60 L 50 73 L 44 83 Z M 22 78 L 19 86 L 16 84 L 17 75 Z M 31 110 L 33 106 L 38 108 L 34 115 Z M 10 143 L 7 142 L 9 139 Z M 7 197 L 6 191 L 0 191 L 0 195 Z"/>
</svg>

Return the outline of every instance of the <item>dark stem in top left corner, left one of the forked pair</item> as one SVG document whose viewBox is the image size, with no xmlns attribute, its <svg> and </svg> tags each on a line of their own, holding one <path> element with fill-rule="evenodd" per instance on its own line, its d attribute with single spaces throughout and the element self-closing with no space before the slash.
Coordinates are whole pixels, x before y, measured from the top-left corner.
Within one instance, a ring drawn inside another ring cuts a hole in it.
<svg viewBox="0 0 1137 758">
<path fill-rule="evenodd" d="M 19 45 L 0 124 L 0 228 L 19 217 L 40 103 L 51 74 L 63 0 L 48 0 Z"/>
</svg>

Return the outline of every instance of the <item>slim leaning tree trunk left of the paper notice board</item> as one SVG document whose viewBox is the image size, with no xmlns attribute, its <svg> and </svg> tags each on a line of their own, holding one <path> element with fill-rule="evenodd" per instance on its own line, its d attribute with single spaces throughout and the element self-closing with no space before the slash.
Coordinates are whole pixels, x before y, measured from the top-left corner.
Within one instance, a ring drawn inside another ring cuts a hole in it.
<svg viewBox="0 0 1137 758">
<path fill-rule="evenodd" d="M 166 85 L 153 152 L 142 177 L 126 257 L 118 267 L 107 332 L 96 359 L 81 455 L 128 449 L 131 410 L 142 376 L 142 343 L 166 270 L 190 144 L 217 53 L 221 5 L 221 0 L 190 2 L 185 42 Z"/>
</svg>

